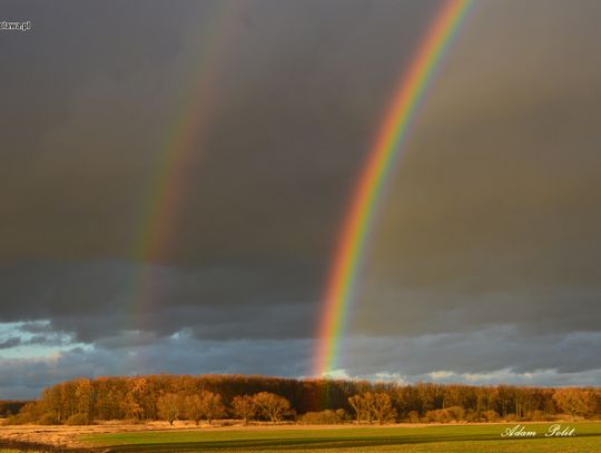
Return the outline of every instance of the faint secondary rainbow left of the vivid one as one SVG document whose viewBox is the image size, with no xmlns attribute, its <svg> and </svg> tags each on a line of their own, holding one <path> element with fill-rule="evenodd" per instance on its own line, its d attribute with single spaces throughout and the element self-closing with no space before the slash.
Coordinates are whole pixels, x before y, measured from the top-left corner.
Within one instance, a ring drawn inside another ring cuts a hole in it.
<svg viewBox="0 0 601 453">
<path fill-rule="evenodd" d="M 239 3 L 224 0 L 207 3 L 208 18 L 198 27 L 197 55 L 181 86 L 177 115 L 169 124 L 159 150 L 155 174 L 144 200 L 132 256 L 139 263 L 131 277 L 128 329 L 144 328 L 144 314 L 159 299 L 160 287 L 152 265 L 171 250 L 177 220 L 185 204 L 190 169 L 206 154 L 204 139 L 210 126 L 216 89 L 216 68 L 235 33 Z"/>
</svg>

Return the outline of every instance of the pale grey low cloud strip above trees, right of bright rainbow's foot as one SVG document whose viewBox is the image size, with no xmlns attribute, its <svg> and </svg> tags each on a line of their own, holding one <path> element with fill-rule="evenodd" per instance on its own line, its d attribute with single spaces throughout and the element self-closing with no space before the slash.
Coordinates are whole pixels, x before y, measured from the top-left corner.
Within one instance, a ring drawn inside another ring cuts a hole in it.
<svg viewBox="0 0 601 453">
<path fill-rule="evenodd" d="M 599 332 L 536 335 L 503 325 L 450 334 L 356 336 L 344 343 L 345 352 L 338 365 L 352 375 L 376 375 L 385 371 L 410 378 L 436 371 L 457 376 L 500 370 L 516 374 L 544 370 L 570 374 L 601 368 L 601 361 L 594 354 L 600 342 Z M 501 380 L 492 376 L 493 382 Z"/>
</svg>

